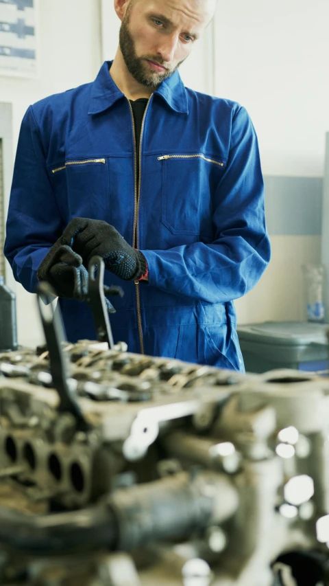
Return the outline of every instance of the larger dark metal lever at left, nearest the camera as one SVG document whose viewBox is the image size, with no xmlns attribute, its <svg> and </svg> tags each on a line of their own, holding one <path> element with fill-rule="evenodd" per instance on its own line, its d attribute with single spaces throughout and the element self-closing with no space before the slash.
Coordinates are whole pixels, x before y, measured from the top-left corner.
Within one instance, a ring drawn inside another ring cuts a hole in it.
<svg viewBox="0 0 329 586">
<path fill-rule="evenodd" d="M 53 387 L 60 396 L 58 410 L 60 412 L 71 413 L 75 417 L 77 429 L 86 431 L 88 429 L 88 423 L 82 414 L 75 392 L 70 389 L 67 383 L 67 379 L 69 379 L 67 358 L 61 348 L 62 343 L 65 341 L 62 316 L 60 314 L 60 308 L 58 307 L 55 313 L 51 304 L 55 294 L 47 282 L 40 282 L 36 293 L 38 309 L 49 352 Z"/>
</svg>

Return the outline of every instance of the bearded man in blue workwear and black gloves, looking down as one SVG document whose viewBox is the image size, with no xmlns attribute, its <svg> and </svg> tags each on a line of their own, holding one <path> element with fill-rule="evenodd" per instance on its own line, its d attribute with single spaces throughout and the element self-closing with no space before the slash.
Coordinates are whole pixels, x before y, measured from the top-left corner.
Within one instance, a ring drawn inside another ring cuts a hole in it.
<svg viewBox="0 0 329 586">
<path fill-rule="evenodd" d="M 66 335 L 95 339 L 86 268 L 123 287 L 111 317 L 131 352 L 243 370 L 234 299 L 269 262 L 258 144 L 245 109 L 184 87 L 178 67 L 216 0 L 114 0 L 113 62 L 30 106 L 5 254 L 50 282 Z"/>
</svg>

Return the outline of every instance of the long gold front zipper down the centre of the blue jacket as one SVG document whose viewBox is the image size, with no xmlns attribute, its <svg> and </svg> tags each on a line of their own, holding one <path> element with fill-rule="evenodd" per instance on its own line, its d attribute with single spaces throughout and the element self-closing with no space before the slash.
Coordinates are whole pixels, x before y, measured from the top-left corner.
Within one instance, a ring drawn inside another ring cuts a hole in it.
<svg viewBox="0 0 329 586">
<path fill-rule="evenodd" d="M 143 142 L 143 131 L 144 131 L 144 124 L 145 124 L 145 117 L 147 115 L 147 110 L 149 108 L 149 102 L 151 101 L 153 93 L 151 94 L 149 101 L 147 102 L 145 112 L 143 115 L 142 126 L 141 126 L 141 139 L 139 143 L 139 180 L 137 185 L 137 153 L 136 153 L 136 134 L 135 134 L 135 122 L 134 122 L 134 113 L 132 111 L 132 104 L 128 100 L 128 104 L 130 107 L 130 112 L 132 114 L 132 130 L 134 133 L 134 168 L 135 168 L 135 210 L 134 210 L 134 231 L 132 234 L 132 242 L 134 248 L 138 249 L 139 245 L 139 238 L 138 238 L 138 207 L 139 207 L 139 199 L 141 197 L 141 167 L 142 167 L 142 142 Z M 138 323 L 138 334 L 139 334 L 139 342 L 141 344 L 141 354 L 145 354 L 144 352 L 144 340 L 143 340 L 143 329 L 142 329 L 142 316 L 141 316 L 141 296 L 139 294 L 139 281 L 135 281 L 136 287 L 136 307 L 137 307 L 137 323 Z"/>
</svg>

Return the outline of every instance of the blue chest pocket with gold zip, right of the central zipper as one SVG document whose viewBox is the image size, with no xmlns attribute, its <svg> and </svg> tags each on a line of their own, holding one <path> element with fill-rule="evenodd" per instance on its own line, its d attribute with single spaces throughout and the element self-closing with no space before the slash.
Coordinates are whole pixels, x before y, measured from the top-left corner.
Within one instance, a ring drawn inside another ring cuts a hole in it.
<svg viewBox="0 0 329 586">
<path fill-rule="evenodd" d="M 225 162 L 206 155 L 163 155 L 162 223 L 172 234 L 212 236 L 217 185 Z"/>
</svg>

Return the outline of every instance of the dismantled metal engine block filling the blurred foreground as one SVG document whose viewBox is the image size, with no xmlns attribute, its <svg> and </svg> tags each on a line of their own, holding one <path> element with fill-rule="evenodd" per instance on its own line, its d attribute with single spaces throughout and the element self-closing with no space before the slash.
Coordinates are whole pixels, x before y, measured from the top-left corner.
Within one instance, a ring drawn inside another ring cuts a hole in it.
<svg viewBox="0 0 329 586">
<path fill-rule="evenodd" d="M 0 354 L 1 585 L 328 586 L 329 379 L 129 353 L 95 262 L 99 341 Z"/>
</svg>

